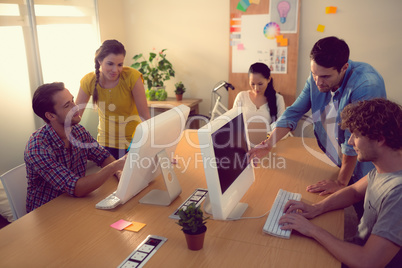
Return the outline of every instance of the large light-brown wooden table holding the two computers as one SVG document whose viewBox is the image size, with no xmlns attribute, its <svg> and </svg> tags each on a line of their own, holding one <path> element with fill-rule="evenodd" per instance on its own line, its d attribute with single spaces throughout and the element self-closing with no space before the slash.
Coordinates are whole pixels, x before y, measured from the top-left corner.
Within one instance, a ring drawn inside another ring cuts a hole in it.
<svg viewBox="0 0 402 268">
<path fill-rule="evenodd" d="M 315 140 L 305 142 L 318 149 Z M 197 143 L 195 132 L 187 130 L 176 149 L 175 169 L 183 192 L 170 206 L 138 202 L 150 189 L 163 189 L 161 177 L 111 211 L 97 210 L 95 204 L 116 189 L 114 179 L 85 198 L 62 195 L 0 230 L 0 267 L 116 267 L 149 234 L 164 236 L 168 241 L 147 267 L 340 267 L 316 241 L 296 232 L 289 240 L 263 234 L 267 216 L 209 220 L 204 248 L 188 250 L 180 227 L 168 216 L 195 188 L 206 187 L 200 150 L 191 146 Z M 189 160 L 191 165 L 186 168 L 184 164 Z M 285 166 L 278 165 L 279 160 Z M 255 183 L 242 200 L 249 205 L 246 217 L 266 213 L 279 188 L 300 192 L 307 202 L 320 200 L 317 194 L 307 193 L 306 186 L 325 178 L 334 179 L 338 172 L 307 153 L 300 138 L 280 141 L 270 161 L 271 167 L 255 170 Z M 139 233 L 109 227 L 120 219 L 147 225 Z M 343 220 L 340 210 L 312 221 L 343 238 Z"/>
</svg>

